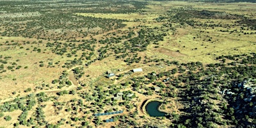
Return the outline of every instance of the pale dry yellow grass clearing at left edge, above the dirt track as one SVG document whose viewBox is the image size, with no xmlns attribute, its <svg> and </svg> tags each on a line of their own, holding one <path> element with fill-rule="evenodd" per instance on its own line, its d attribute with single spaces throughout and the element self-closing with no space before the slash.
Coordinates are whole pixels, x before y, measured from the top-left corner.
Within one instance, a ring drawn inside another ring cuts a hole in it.
<svg viewBox="0 0 256 128">
<path fill-rule="evenodd" d="M 61 56 L 53 54 L 48 50 L 44 51 L 44 49 L 47 49 L 44 45 L 30 44 L 22 46 L 24 47 L 23 49 L 11 47 L 6 51 L 1 51 L 2 56 L 12 57 L 8 59 L 8 64 L 4 65 L 4 67 L 15 62 L 17 63 L 15 67 L 20 65 L 21 68 L 19 70 L 14 68 L 14 71 L 7 70 L 1 74 L 1 88 L 6 91 L 1 93 L 0 99 L 12 96 L 12 92 L 20 92 L 19 94 L 23 95 L 23 91 L 26 88 L 35 88 L 35 86 L 41 85 L 42 83 L 51 83 L 52 79 L 58 79 L 61 72 L 65 70 L 61 68 L 61 64 L 65 63 L 67 58 L 61 58 Z M 33 47 L 42 49 L 42 52 L 32 51 Z M 7 47 L 1 48 L 7 49 Z M 29 50 L 26 50 L 27 48 Z M 61 61 L 60 65 L 55 65 L 56 67 L 54 68 L 47 68 L 49 59 L 52 59 L 53 62 Z M 39 61 L 44 61 L 45 66 L 39 67 Z"/>
</svg>

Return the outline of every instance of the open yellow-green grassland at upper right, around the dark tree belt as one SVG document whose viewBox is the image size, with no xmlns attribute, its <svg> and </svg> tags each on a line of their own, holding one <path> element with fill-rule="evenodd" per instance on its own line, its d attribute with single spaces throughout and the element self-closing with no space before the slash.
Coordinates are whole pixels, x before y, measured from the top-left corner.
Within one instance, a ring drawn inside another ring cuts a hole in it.
<svg viewBox="0 0 256 128">
<path fill-rule="evenodd" d="M 150 8 L 168 10 L 166 8 L 179 8 L 191 6 L 198 10 L 225 11 L 231 14 L 246 15 L 255 18 L 255 13 L 250 10 L 255 10 L 255 4 L 207 4 L 205 3 L 186 3 L 186 2 L 165 2 L 164 5 L 160 2 L 152 2 Z M 171 7 L 172 6 L 172 7 Z M 227 8 L 230 7 L 230 8 Z M 240 10 L 240 11 L 238 11 Z M 239 12 L 239 13 L 237 13 Z M 235 20 L 222 19 L 194 19 L 202 23 L 214 22 L 214 24 L 234 24 Z M 256 35 L 243 35 L 243 33 L 229 34 L 220 32 L 227 28 L 202 28 L 195 29 L 189 26 L 177 28 L 175 33 L 169 32 L 170 36 L 164 38 L 163 42 L 159 43 L 159 48 L 154 48 L 155 45 L 149 45 L 147 50 L 148 56 L 157 56 L 157 58 L 173 59 L 182 62 L 201 61 L 203 63 L 216 63 L 215 58 L 227 54 L 243 54 L 256 51 L 255 40 Z M 228 28 L 229 31 L 240 29 L 239 27 Z M 204 33 L 200 33 L 204 31 Z M 255 32 L 245 30 L 244 32 Z M 196 37 L 193 39 L 193 37 Z M 207 41 L 211 37 L 211 42 Z M 205 48 L 206 47 L 206 48 Z M 157 51 L 157 52 L 155 52 Z"/>
</svg>

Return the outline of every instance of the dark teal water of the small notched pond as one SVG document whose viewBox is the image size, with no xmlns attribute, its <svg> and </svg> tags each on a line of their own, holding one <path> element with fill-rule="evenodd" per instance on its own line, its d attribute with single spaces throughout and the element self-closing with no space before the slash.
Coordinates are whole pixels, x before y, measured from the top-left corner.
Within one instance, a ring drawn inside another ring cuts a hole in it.
<svg viewBox="0 0 256 128">
<path fill-rule="evenodd" d="M 158 107 L 161 105 L 161 102 L 159 101 L 152 101 L 152 102 L 148 102 L 147 106 L 146 106 L 146 111 L 150 116 L 165 116 L 166 113 L 158 111 Z"/>
</svg>

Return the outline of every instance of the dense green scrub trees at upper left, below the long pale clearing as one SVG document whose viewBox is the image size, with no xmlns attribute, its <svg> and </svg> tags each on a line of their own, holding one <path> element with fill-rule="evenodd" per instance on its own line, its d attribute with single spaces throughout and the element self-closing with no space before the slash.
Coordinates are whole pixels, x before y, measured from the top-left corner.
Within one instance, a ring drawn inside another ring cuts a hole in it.
<svg viewBox="0 0 256 128">
<path fill-rule="evenodd" d="M 47 4 L 44 6 L 46 6 L 45 8 L 49 7 Z M 77 6 L 70 6 L 69 9 L 74 11 Z M 6 7 L 9 7 L 10 9 L 15 8 L 15 6 Z M 95 35 L 125 26 L 122 24 L 123 20 L 83 17 L 74 15 L 74 12 L 61 13 L 62 11 L 58 11 L 63 8 L 66 7 L 61 8 L 60 6 L 60 8 L 52 8 L 55 10 L 54 13 L 49 13 L 47 11 L 42 12 L 40 7 L 37 8 L 37 10 L 36 8 L 33 8 L 35 12 L 40 12 L 40 15 L 31 16 L 29 17 L 29 20 L 28 17 L 5 17 L 0 24 L 0 26 L 4 26 L 4 31 L 1 35 L 24 36 L 45 40 L 69 40 L 70 38 L 77 38 L 78 36 L 83 38 L 88 34 Z M 28 12 L 31 12 L 31 10 L 26 8 L 24 13 Z M 100 29 L 94 31 L 93 28 Z"/>
</svg>

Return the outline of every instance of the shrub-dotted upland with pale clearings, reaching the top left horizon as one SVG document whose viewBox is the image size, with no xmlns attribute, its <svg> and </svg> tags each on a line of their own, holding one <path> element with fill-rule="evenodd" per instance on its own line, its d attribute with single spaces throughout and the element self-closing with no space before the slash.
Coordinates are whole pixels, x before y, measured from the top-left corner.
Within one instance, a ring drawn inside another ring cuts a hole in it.
<svg viewBox="0 0 256 128">
<path fill-rule="evenodd" d="M 82 17 L 74 13 L 132 13 L 145 8 L 146 4 L 143 1 L 102 1 L 96 4 L 84 1 L 3 1 L 0 26 L 6 27 L 0 34 L 45 40 L 85 38 L 122 28 L 125 20 Z M 10 9 L 10 5 L 15 9 Z"/>
</svg>

